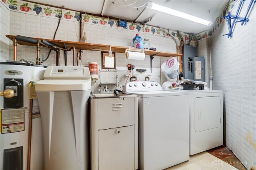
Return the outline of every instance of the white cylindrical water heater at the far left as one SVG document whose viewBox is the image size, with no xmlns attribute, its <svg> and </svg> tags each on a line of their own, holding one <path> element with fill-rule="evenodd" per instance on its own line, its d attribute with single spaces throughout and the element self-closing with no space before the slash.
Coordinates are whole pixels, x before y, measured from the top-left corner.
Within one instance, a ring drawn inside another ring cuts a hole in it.
<svg viewBox="0 0 256 170">
<path fill-rule="evenodd" d="M 29 84 L 42 79 L 45 70 L 46 66 L 23 61 L 0 63 L 0 91 L 14 90 L 12 98 L 0 96 L 0 170 L 27 169 Z M 30 169 L 42 170 L 42 123 L 37 99 L 33 99 L 32 112 Z"/>
</svg>

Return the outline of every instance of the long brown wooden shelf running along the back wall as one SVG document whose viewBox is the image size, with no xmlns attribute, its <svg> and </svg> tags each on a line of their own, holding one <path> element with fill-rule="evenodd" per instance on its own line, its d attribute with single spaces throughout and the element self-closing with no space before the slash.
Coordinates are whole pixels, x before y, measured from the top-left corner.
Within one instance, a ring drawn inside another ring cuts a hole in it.
<svg viewBox="0 0 256 170">
<path fill-rule="evenodd" d="M 16 39 L 16 36 L 12 36 L 12 35 L 6 35 L 6 37 L 9 38 L 10 40 Z M 43 40 L 42 38 L 33 38 L 33 39 L 40 40 L 40 41 Z M 55 44 L 56 46 L 61 47 L 61 48 L 64 48 L 64 43 L 65 43 L 67 48 L 72 48 L 74 46 L 75 49 L 80 49 L 80 50 L 105 51 L 105 52 L 108 52 L 110 50 L 109 45 L 103 45 L 103 44 L 91 44 L 91 43 L 62 41 L 62 40 L 49 40 L 49 39 L 44 39 L 44 40 L 46 40 L 52 44 Z M 30 44 L 28 42 L 23 42 L 23 41 L 17 41 L 17 44 L 26 45 L 26 46 L 36 46 L 36 44 Z M 137 48 L 124 47 L 124 46 L 111 46 L 112 52 L 125 53 L 126 49 L 139 50 Z M 160 52 L 160 51 L 153 51 L 153 50 L 144 50 L 144 53 L 149 56 L 164 56 L 164 57 L 182 56 L 182 54 L 178 54 L 178 53 Z"/>
</svg>

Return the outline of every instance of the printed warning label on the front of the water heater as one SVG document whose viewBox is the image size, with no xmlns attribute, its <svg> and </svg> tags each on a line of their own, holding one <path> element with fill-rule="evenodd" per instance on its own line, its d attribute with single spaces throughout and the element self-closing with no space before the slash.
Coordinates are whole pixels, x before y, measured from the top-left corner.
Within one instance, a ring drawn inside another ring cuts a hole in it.
<svg viewBox="0 0 256 170">
<path fill-rule="evenodd" d="M 2 133 L 24 131 L 24 108 L 2 110 Z"/>
</svg>

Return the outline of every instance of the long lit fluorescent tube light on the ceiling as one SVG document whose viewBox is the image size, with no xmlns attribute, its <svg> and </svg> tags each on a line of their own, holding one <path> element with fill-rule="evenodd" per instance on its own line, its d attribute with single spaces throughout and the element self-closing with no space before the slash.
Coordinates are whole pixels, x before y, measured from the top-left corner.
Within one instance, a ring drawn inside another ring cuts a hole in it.
<svg viewBox="0 0 256 170">
<path fill-rule="evenodd" d="M 197 23 L 200 23 L 200 24 L 204 24 L 206 26 L 211 26 L 212 25 L 212 22 L 210 22 L 208 20 L 204 20 L 202 18 L 198 18 L 196 16 L 192 16 L 190 14 L 186 14 L 184 12 L 180 12 L 180 11 L 177 11 L 177 10 L 174 10 L 174 9 L 171 9 L 171 8 L 167 8 L 165 6 L 158 5 L 158 4 L 155 4 L 155 3 L 152 3 L 151 9 L 158 10 L 160 12 L 165 12 L 167 14 L 178 16 L 180 18 L 184 18 L 186 20 L 194 21 L 194 22 L 197 22 Z"/>
</svg>

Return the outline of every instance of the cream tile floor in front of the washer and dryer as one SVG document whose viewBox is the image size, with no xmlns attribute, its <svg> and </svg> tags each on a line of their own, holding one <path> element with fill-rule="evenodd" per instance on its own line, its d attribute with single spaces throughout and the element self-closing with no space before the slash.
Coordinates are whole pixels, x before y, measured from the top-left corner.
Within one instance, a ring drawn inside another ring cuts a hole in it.
<svg viewBox="0 0 256 170">
<path fill-rule="evenodd" d="M 190 156 L 190 159 L 181 164 L 172 166 L 165 170 L 238 170 L 234 166 L 213 156 L 208 152 L 201 152 Z"/>
</svg>

